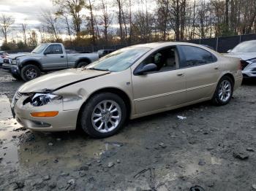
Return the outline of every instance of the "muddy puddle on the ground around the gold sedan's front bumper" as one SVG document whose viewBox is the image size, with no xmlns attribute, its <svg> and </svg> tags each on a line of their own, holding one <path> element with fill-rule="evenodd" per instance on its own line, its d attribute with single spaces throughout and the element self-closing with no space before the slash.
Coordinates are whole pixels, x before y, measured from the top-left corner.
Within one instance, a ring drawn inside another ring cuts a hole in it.
<svg viewBox="0 0 256 191">
<path fill-rule="evenodd" d="M 3 166 L 75 168 L 115 155 L 127 145 L 140 144 L 126 133 L 108 139 L 90 139 L 82 131 L 39 133 L 26 130 L 12 119 L 7 96 L 0 95 L 0 103 L 0 165 Z"/>
</svg>

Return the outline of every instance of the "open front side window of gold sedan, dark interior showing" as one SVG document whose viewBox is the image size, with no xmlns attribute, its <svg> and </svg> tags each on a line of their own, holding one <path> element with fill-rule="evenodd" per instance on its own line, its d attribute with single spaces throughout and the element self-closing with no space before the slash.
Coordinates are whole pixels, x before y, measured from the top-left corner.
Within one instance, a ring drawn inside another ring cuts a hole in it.
<svg viewBox="0 0 256 191">
<path fill-rule="evenodd" d="M 167 47 L 165 49 L 154 52 L 149 55 L 141 64 L 146 66 L 148 63 L 157 65 L 157 71 L 168 71 L 178 69 L 178 55 L 175 47 Z"/>
</svg>

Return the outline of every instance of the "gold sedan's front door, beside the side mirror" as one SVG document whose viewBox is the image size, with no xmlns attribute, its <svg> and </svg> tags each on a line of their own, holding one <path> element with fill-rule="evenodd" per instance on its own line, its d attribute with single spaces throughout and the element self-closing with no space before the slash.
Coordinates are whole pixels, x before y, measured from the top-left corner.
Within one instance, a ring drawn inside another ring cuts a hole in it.
<svg viewBox="0 0 256 191">
<path fill-rule="evenodd" d="M 168 58 L 171 55 L 170 51 L 174 52 L 175 58 Z M 159 58 L 159 55 L 164 56 L 164 58 Z M 136 113 L 154 113 L 184 104 L 186 74 L 184 74 L 184 69 L 178 69 L 176 47 L 167 47 L 154 52 L 138 67 L 145 66 L 148 63 L 155 63 L 159 69 L 148 74 L 132 74 Z"/>
</svg>

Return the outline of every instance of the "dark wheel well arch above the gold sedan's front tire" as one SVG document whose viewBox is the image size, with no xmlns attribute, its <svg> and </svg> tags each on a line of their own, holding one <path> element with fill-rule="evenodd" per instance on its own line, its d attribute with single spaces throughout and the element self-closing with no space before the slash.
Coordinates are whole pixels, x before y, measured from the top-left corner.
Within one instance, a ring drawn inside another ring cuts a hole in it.
<svg viewBox="0 0 256 191">
<path fill-rule="evenodd" d="M 119 90 L 119 89 L 114 88 L 114 87 L 107 87 L 107 88 L 103 88 L 101 90 L 97 90 L 96 92 L 92 93 L 89 96 L 89 98 L 86 99 L 86 101 L 83 103 L 83 105 L 79 109 L 77 125 L 79 125 L 80 114 L 82 112 L 83 106 L 85 106 L 88 103 L 88 101 L 90 100 L 90 98 L 92 98 L 94 95 L 96 95 L 98 93 L 104 93 L 104 92 L 115 93 L 120 98 L 122 98 L 124 100 L 124 104 L 127 106 L 128 117 L 130 117 L 131 109 L 132 109 L 132 104 L 131 104 L 131 101 L 130 101 L 129 96 L 127 95 L 127 93 L 124 93 L 124 91 Z"/>
</svg>

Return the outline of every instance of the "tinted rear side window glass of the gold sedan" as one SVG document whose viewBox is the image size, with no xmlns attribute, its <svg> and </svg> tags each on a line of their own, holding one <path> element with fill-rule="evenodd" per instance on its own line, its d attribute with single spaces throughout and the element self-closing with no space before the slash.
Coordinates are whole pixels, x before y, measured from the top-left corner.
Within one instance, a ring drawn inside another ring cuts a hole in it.
<svg viewBox="0 0 256 191">
<path fill-rule="evenodd" d="M 186 61 L 184 67 L 214 63 L 215 61 L 217 61 L 217 58 L 215 58 L 215 56 L 212 55 L 211 52 L 203 50 L 200 47 L 181 46 L 181 48 L 185 55 Z"/>
</svg>

